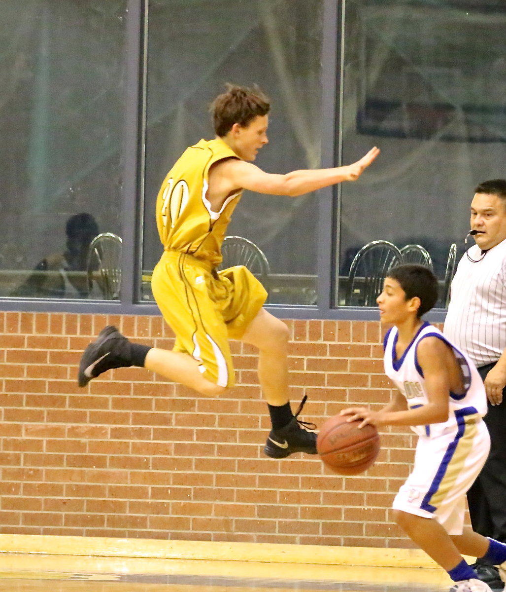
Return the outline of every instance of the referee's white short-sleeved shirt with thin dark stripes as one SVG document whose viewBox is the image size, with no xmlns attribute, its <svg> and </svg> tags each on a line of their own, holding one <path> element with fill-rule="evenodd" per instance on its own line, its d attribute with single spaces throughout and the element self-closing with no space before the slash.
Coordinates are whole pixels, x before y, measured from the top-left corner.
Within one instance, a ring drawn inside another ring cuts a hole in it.
<svg viewBox="0 0 506 592">
<path fill-rule="evenodd" d="M 482 257 L 477 244 L 459 261 L 443 333 L 478 366 L 506 349 L 506 240 Z"/>
</svg>

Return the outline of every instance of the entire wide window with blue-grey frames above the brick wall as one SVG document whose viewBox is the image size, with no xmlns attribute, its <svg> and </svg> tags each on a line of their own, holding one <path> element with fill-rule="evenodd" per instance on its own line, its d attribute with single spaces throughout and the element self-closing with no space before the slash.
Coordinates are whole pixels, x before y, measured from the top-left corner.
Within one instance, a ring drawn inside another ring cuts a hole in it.
<svg viewBox="0 0 506 592">
<path fill-rule="evenodd" d="M 264 253 L 276 314 L 376 318 L 360 273 L 348 294 L 353 258 L 376 240 L 424 247 L 444 290 L 473 188 L 504 176 L 505 21 L 500 0 L 6 0 L 5 308 L 157 311 L 158 188 L 187 146 L 212 137 L 207 105 L 227 82 L 272 99 L 256 161 L 268 172 L 381 148 L 356 183 L 244 192 L 228 234 Z M 89 257 L 103 233 L 112 288 Z"/>
</svg>

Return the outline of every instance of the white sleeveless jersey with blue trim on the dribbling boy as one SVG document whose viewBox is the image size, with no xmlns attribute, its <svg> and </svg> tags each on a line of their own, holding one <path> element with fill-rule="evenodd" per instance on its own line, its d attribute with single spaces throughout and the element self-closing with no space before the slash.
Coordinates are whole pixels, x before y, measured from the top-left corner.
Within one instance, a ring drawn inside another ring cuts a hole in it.
<svg viewBox="0 0 506 592">
<path fill-rule="evenodd" d="M 455 358 L 460 364 L 463 374 L 465 391 L 463 394 L 450 392 L 449 418 L 447 422 L 435 423 L 430 426 L 410 426 L 420 436 L 437 437 L 442 433 L 452 432 L 462 424 L 465 416 L 483 417 L 486 413 L 486 394 L 482 379 L 471 360 L 460 352 L 439 329 L 424 323 L 414 336 L 410 345 L 400 359 L 395 354 L 397 343 L 397 327 L 390 329 L 384 340 L 385 374 L 391 378 L 400 392 L 406 397 L 408 408 L 414 409 L 429 403 L 425 389 L 423 371 L 417 359 L 417 347 L 424 337 L 437 337 L 452 348 Z"/>
</svg>

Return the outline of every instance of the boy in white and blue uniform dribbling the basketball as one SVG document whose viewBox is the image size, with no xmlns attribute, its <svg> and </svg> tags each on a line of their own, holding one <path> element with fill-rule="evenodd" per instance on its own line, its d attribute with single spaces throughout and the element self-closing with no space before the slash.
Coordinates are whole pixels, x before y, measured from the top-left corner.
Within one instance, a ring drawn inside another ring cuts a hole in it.
<svg viewBox="0 0 506 592">
<path fill-rule="evenodd" d="M 379 411 L 341 411 L 361 426 L 410 426 L 417 433 L 413 471 L 395 496 L 395 522 L 447 571 L 452 592 L 488 592 L 462 555 L 499 565 L 504 581 L 506 545 L 464 528 L 466 491 L 490 448 L 482 421 L 483 383 L 473 363 L 421 316 L 437 300 L 437 280 L 421 265 L 388 272 L 377 298 L 382 324 L 393 324 L 385 340 L 385 374 L 398 388 Z"/>
</svg>

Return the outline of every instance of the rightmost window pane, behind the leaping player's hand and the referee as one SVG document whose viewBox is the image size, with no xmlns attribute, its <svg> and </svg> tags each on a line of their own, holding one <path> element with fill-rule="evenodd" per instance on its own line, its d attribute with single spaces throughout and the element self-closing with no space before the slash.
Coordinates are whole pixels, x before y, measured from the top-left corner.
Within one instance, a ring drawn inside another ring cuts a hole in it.
<svg viewBox="0 0 506 592">
<path fill-rule="evenodd" d="M 505 23 L 495 0 L 346 3 L 343 162 L 372 144 L 381 155 L 361 184 L 342 186 L 336 304 L 356 253 L 386 240 L 427 250 L 445 306 L 469 188 L 504 171 Z"/>
</svg>

